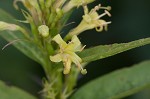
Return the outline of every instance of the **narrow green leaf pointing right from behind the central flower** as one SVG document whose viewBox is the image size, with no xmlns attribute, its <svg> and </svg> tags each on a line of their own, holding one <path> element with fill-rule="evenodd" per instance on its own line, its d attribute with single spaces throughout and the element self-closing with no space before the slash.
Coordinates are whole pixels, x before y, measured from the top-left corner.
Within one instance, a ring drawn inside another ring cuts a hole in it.
<svg viewBox="0 0 150 99">
<path fill-rule="evenodd" d="M 93 48 L 85 49 L 79 53 L 84 62 L 91 62 L 98 59 L 113 56 L 115 54 L 150 44 L 150 38 L 140 39 L 129 43 L 100 45 Z"/>
</svg>

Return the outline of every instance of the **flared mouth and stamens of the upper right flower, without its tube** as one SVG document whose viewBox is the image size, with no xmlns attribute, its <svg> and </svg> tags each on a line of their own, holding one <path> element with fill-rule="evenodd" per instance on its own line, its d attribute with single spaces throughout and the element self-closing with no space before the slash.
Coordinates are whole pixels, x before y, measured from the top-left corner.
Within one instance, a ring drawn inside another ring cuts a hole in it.
<svg viewBox="0 0 150 99">
<path fill-rule="evenodd" d="M 109 17 L 111 14 L 105 10 L 103 14 L 98 14 L 97 10 L 104 8 L 110 9 L 110 7 L 101 7 L 101 5 L 95 6 L 90 12 L 88 12 L 87 6 L 84 7 L 85 15 L 83 15 L 83 20 L 81 24 L 84 24 L 85 30 L 95 28 L 96 31 L 101 32 L 103 28 L 107 30 L 107 25 L 111 22 L 106 22 L 105 20 L 101 19 L 103 16 L 108 15 Z"/>
</svg>

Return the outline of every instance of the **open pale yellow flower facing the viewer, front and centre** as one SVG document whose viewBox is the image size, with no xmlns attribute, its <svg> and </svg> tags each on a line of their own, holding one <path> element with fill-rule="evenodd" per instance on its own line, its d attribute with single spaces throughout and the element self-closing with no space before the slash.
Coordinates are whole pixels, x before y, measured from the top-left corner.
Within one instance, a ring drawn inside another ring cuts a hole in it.
<svg viewBox="0 0 150 99">
<path fill-rule="evenodd" d="M 81 42 L 76 35 L 72 37 L 72 40 L 68 44 L 61 38 L 59 34 L 53 38 L 53 41 L 59 45 L 60 49 L 58 54 L 50 56 L 50 60 L 52 62 L 62 61 L 64 64 L 64 74 L 68 74 L 70 72 L 72 62 L 81 69 L 82 74 L 87 73 L 86 69 L 83 69 L 80 64 L 82 59 L 75 53 L 82 51 L 84 48 L 81 46 Z"/>
</svg>

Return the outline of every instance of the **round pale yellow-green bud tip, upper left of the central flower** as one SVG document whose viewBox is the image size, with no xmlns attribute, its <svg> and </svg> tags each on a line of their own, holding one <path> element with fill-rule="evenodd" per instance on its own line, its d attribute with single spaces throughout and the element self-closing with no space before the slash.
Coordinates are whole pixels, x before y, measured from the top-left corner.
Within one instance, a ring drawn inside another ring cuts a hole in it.
<svg viewBox="0 0 150 99">
<path fill-rule="evenodd" d="M 39 31 L 39 34 L 42 36 L 42 37 L 48 37 L 49 36 L 49 28 L 48 26 L 46 25 L 41 25 L 38 27 L 38 31 Z"/>
</svg>

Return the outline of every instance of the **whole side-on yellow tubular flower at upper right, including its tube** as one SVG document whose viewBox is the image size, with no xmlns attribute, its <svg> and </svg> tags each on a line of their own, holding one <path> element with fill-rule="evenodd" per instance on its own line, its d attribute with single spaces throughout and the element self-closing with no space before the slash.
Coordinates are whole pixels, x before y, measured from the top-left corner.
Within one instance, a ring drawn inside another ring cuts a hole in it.
<svg viewBox="0 0 150 99">
<path fill-rule="evenodd" d="M 81 23 L 70 31 L 70 33 L 67 35 L 68 37 L 71 37 L 72 35 L 79 35 L 83 31 L 90 30 L 95 28 L 96 31 L 101 32 L 103 29 L 107 30 L 107 25 L 111 22 L 106 22 L 105 20 L 101 19 L 103 16 L 108 15 L 111 17 L 111 14 L 108 12 L 111 10 L 111 7 L 102 7 L 100 4 L 98 6 L 95 6 L 91 11 L 89 11 L 88 7 L 85 5 L 83 6 L 84 9 L 84 15 L 83 20 Z M 104 13 L 98 14 L 97 11 L 100 9 L 105 9 Z M 67 38 L 68 38 L 67 37 Z"/>
</svg>

